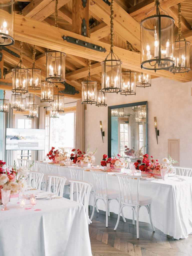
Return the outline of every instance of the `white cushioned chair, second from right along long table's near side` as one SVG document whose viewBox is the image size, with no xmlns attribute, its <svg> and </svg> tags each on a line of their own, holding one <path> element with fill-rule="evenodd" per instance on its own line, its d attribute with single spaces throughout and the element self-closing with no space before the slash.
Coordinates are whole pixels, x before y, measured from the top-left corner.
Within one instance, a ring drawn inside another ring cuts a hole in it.
<svg viewBox="0 0 192 256">
<path fill-rule="evenodd" d="M 119 202 L 119 191 L 116 189 L 108 188 L 108 182 L 107 182 L 108 173 L 103 173 L 103 172 L 93 171 L 93 170 L 90 170 L 90 172 L 92 172 L 93 180 L 94 180 L 94 184 L 93 184 L 94 201 L 93 201 L 93 211 L 92 211 L 90 220 L 92 220 L 93 218 L 95 207 L 97 209 L 97 201 L 99 199 L 103 200 L 105 202 L 106 227 L 108 227 L 108 216 L 110 216 L 109 203 L 113 199 Z M 123 215 L 122 217 L 125 221 L 125 218 Z"/>
</svg>

